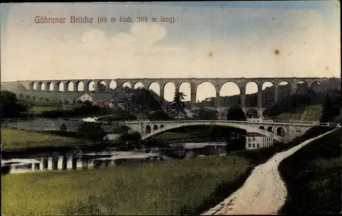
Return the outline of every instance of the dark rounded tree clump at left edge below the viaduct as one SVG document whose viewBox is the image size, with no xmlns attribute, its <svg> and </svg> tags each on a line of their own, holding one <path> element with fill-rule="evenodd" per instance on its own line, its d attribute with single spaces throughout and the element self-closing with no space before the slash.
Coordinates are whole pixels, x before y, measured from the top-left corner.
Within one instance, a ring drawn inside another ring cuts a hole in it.
<svg viewBox="0 0 342 216">
<path fill-rule="evenodd" d="M 13 92 L 1 90 L 1 118 L 14 118 L 29 109 L 27 103 L 21 103 Z"/>
</svg>

